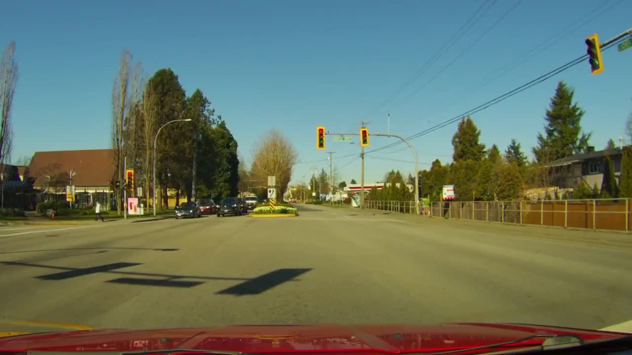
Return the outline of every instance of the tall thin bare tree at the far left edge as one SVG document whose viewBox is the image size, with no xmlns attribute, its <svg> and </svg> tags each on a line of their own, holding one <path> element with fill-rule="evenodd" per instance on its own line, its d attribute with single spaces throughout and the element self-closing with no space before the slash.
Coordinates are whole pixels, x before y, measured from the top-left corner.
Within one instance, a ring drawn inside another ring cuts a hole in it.
<svg viewBox="0 0 632 355">
<path fill-rule="evenodd" d="M 12 127 L 11 104 L 15 94 L 15 86 L 18 82 L 18 63 L 15 63 L 15 41 L 9 42 L 4 50 L 0 63 L 0 164 L 11 159 Z"/>
</svg>

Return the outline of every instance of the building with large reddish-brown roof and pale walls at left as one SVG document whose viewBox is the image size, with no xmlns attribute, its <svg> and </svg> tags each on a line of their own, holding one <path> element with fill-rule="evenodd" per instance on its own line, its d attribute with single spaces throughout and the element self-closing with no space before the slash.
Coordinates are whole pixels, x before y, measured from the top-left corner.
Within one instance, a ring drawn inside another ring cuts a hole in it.
<svg viewBox="0 0 632 355">
<path fill-rule="evenodd" d="M 28 165 L 28 178 L 39 190 L 37 202 L 73 197 L 77 207 L 114 203 L 114 150 L 58 150 L 35 152 Z M 72 186 L 72 188 L 71 188 Z"/>
</svg>

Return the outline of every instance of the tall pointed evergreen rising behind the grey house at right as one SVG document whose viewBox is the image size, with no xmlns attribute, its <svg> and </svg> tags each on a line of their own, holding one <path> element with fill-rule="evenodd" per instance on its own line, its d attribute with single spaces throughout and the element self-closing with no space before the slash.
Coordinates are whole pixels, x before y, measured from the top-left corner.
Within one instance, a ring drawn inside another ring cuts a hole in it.
<svg viewBox="0 0 632 355">
<path fill-rule="evenodd" d="M 573 95 L 574 91 L 564 81 L 558 83 L 546 111 L 544 135 L 538 135 L 538 146 L 533 148 L 538 162 L 552 162 L 582 153 L 588 147 L 591 134 L 581 131 L 581 117 L 585 112 L 573 103 Z"/>
</svg>

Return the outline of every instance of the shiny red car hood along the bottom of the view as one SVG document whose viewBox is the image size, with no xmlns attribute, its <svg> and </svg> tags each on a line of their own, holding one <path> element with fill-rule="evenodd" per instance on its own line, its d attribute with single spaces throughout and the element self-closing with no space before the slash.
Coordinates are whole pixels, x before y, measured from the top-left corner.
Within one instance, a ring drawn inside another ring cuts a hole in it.
<svg viewBox="0 0 632 355">
<path fill-rule="evenodd" d="M 94 329 L 0 338 L 2 351 L 152 351 L 199 349 L 237 352 L 447 351 L 511 342 L 534 334 L 573 334 L 584 340 L 629 334 L 501 323 L 439 325 L 233 325 L 214 328 Z M 544 339 L 528 340 L 540 344 Z"/>
</svg>

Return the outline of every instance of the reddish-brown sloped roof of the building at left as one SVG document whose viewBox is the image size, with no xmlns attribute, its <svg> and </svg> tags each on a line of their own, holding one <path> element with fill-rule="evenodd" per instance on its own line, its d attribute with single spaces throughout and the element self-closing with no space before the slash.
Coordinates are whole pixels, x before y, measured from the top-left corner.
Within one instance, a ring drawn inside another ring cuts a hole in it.
<svg viewBox="0 0 632 355">
<path fill-rule="evenodd" d="M 51 177 L 52 186 L 68 185 L 71 169 L 75 169 L 73 185 L 108 186 L 114 177 L 114 150 L 58 150 L 35 152 L 28 174 L 34 186 L 44 186 Z"/>
</svg>

